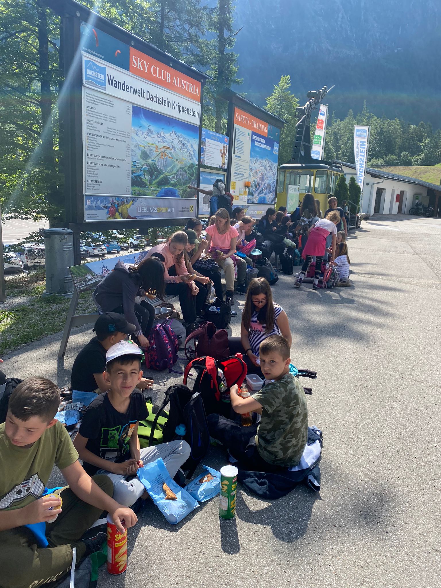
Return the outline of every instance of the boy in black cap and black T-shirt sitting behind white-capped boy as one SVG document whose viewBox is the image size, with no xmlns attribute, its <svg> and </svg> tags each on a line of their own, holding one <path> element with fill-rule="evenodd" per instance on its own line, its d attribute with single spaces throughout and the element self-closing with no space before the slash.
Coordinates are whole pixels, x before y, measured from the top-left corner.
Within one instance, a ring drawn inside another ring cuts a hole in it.
<svg viewBox="0 0 441 588">
<path fill-rule="evenodd" d="M 75 358 L 72 366 L 72 390 L 78 392 L 106 392 L 109 386 L 105 383 L 103 372 L 106 369 L 106 351 L 128 335 L 135 332 L 135 325 L 128 323 L 123 315 L 117 312 L 106 312 L 96 319 L 93 327 L 96 337 L 83 347 Z M 151 387 L 153 380 L 141 379 L 138 388 L 144 390 Z"/>
</svg>

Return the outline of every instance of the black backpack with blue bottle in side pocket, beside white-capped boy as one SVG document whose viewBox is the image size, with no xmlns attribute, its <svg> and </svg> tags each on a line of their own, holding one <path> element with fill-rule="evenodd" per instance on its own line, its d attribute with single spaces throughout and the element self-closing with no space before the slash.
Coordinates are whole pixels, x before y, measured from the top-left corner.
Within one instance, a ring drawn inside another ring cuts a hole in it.
<svg viewBox="0 0 441 588">
<path fill-rule="evenodd" d="M 191 452 L 182 469 L 189 470 L 186 477 L 190 478 L 210 445 L 210 433 L 202 395 L 201 392 L 192 392 L 182 384 L 170 386 L 165 392 L 165 399 L 161 407 L 157 409 L 158 412 L 152 425 L 153 430 L 155 430 L 159 415 L 169 402 L 168 419 L 162 430 L 163 441 L 166 443 L 175 439 L 177 436 L 176 427 L 185 425 L 186 432 L 182 439 L 188 443 Z"/>
</svg>

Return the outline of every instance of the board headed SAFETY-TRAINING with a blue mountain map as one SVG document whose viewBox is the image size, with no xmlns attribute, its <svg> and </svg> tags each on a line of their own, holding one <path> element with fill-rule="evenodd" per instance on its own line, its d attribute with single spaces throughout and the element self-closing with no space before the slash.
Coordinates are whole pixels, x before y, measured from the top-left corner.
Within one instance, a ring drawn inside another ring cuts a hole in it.
<svg viewBox="0 0 441 588">
<path fill-rule="evenodd" d="M 230 192 L 234 205 L 273 204 L 280 129 L 237 107 L 233 116 Z"/>
</svg>

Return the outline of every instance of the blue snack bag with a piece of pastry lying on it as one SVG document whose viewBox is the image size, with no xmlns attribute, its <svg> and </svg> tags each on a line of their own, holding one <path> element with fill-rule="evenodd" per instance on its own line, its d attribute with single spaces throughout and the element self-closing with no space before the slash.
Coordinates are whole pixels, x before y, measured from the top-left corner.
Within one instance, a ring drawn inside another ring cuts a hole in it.
<svg viewBox="0 0 441 588">
<path fill-rule="evenodd" d="M 140 467 L 136 475 L 170 524 L 181 522 L 192 510 L 198 508 L 196 500 L 173 482 L 161 457 Z"/>
</svg>

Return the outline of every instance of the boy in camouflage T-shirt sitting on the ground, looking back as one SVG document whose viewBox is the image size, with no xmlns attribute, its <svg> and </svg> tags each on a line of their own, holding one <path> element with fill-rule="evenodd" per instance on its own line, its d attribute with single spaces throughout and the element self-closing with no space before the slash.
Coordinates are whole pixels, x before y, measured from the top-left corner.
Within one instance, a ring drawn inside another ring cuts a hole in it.
<svg viewBox="0 0 441 588">
<path fill-rule="evenodd" d="M 272 335 L 260 343 L 260 368 L 268 383 L 248 398 L 230 388 L 233 410 L 257 412 L 258 425 L 242 427 L 220 415 L 209 415 L 210 434 L 228 448 L 230 456 L 248 469 L 268 472 L 300 462 L 308 436 L 308 406 L 299 380 L 289 373 L 289 343 Z"/>
</svg>

